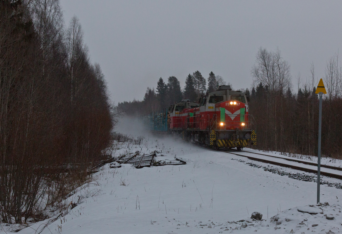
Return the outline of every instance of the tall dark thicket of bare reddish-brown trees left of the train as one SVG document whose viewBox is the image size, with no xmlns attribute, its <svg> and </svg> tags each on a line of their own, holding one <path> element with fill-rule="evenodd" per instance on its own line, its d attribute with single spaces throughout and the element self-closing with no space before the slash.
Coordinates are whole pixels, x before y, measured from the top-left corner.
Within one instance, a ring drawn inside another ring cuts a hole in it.
<svg viewBox="0 0 342 234">
<path fill-rule="evenodd" d="M 46 218 L 104 159 L 106 82 L 58 0 L 0 1 L 0 219 Z"/>
</svg>

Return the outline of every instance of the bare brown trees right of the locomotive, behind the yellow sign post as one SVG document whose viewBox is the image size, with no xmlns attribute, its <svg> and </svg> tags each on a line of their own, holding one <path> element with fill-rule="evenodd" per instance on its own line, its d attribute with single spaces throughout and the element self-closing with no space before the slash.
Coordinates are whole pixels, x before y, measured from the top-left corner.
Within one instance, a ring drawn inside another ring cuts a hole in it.
<svg viewBox="0 0 342 234">
<path fill-rule="evenodd" d="M 338 60 L 335 54 L 327 61 L 322 77 L 327 94 L 322 104 L 321 151 L 333 158 L 342 158 L 342 69 Z M 297 94 L 291 92 L 290 66 L 279 50 L 260 48 L 251 73 L 256 88 L 249 106 L 257 122 L 257 148 L 317 156 L 319 100 L 314 64 L 309 82 L 301 88 L 298 75 Z"/>
</svg>

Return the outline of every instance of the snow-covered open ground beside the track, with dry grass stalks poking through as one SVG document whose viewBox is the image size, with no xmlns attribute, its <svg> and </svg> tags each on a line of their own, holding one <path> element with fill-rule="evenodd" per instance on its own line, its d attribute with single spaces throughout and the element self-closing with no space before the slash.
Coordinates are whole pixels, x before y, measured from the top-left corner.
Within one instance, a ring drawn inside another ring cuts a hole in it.
<svg viewBox="0 0 342 234">
<path fill-rule="evenodd" d="M 158 150 L 164 155 L 158 159 L 176 156 L 187 163 L 141 169 L 107 164 L 66 201 L 78 205 L 41 233 L 342 233 L 341 189 L 321 185 L 320 200 L 329 205 L 316 206 L 314 182 L 265 171 L 265 163 L 175 138 L 144 136 L 144 144 L 129 145 L 129 150 L 118 145 L 115 157 Z M 262 220 L 252 220 L 253 212 L 260 212 Z M 47 222 L 19 233 L 39 233 Z M 9 227 L 1 227 L 0 233 Z"/>
</svg>

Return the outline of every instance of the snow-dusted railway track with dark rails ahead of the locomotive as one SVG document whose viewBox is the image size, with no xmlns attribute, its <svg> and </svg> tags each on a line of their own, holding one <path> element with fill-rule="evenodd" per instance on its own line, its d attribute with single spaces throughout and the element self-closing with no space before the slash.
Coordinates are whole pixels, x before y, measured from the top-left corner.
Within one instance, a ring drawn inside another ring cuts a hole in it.
<svg viewBox="0 0 342 234">
<path fill-rule="evenodd" d="M 265 163 L 269 163 L 273 165 L 278 165 L 281 167 L 287 167 L 287 168 L 292 168 L 292 169 L 296 169 L 300 171 L 311 172 L 311 173 L 317 174 L 317 168 L 314 169 L 314 167 L 317 167 L 317 163 L 314 163 L 314 162 L 307 162 L 307 161 L 302 161 L 302 160 L 297 160 L 297 159 L 284 158 L 284 157 L 278 157 L 278 156 L 272 156 L 272 155 L 266 155 L 263 153 L 255 153 L 255 152 L 248 152 L 248 151 L 238 151 L 239 153 L 236 153 L 236 151 L 233 151 L 233 152 L 226 151 L 226 150 L 219 150 L 219 151 L 230 153 L 230 154 L 237 155 L 237 156 L 246 157 L 254 161 L 265 162 Z M 254 154 L 254 155 L 262 155 L 263 157 L 262 158 L 257 157 L 257 156 L 253 157 L 250 155 L 246 155 L 245 153 Z M 266 157 L 269 159 L 266 159 Z M 287 160 L 287 161 L 290 161 L 291 163 L 281 162 L 282 160 Z M 309 165 L 309 167 L 301 167 L 300 163 Z M 333 166 L 321 164 L 320 174 L 342 180 L 342 168 L 341 167 L 333 167 Z"/>
</svg>

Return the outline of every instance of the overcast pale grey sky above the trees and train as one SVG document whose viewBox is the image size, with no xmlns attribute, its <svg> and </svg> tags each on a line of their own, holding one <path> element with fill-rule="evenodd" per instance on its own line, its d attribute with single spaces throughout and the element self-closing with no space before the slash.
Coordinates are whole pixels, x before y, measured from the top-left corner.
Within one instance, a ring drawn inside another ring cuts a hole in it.
<svg viewBox="0 0 342 234">
<path fill-rule="evenodd" d="M 213 71 L 234 89 L 251 88 L 260 47 L 275 51 L 298 73 L 324 76 L 327 60 L 342 48 L 342 1 L 101 1 L 61 0 L 65 24 L 80 19 L 93 62 L 100 63 L 111 99 L 142 100 L 176 76 L 206 79 Z M 303 84 L 303 83 L 302 83 Z"/>
</svg>

